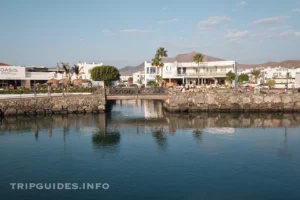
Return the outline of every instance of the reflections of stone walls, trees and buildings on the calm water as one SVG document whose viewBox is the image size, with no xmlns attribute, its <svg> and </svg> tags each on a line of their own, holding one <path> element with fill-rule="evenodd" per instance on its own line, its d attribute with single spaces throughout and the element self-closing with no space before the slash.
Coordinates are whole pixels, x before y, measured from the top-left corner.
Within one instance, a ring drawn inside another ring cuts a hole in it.
<svg viewBox="0 0 300 200">
<path fill-rule="evenodd" d="M 63 140 L 68 134 L 91 137 L 95 148 L 118 146 L 123 129 L 136 130 L 136 134 L 150 133 L 160 149 L 168 146 L 168 135 L 178 130 L 192 130 L 198 142 L 203 142 L 206 134 L 234 134 L 235 128 L 280 128 L 284 127 L 284 148 L 280 156 L 291 156 L 288 151 L 287 127 L 298 127 L 298 114 L 170 114 L 165 113 L 159 101 L 119 101 L 112 104 L 115 110 L 105 114 L 53 115 L 45 117 L 7 117 L 1 119 L 0 135 L 10 131 L 31 130 L 36 141 L 42 132 L 53 137 L 62 133 Z M 132 129 L 133 128 L 133 129 Z M 54 131 L 54 130 L 55 131 Z"/>
</svg>

